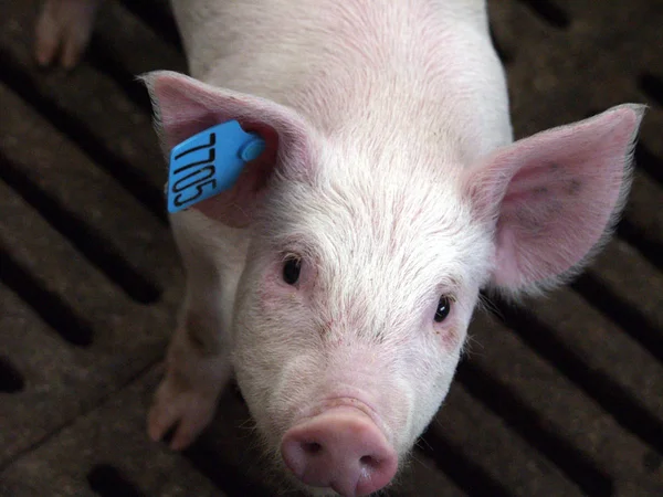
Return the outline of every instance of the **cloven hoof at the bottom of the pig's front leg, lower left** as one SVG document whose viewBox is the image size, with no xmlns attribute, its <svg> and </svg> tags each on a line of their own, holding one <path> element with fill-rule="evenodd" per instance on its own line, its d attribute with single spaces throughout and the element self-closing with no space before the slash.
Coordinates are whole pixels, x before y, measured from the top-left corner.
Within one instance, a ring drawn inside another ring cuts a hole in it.
<svg viewBox="0 0 663 497">
<path fill-rule="evenodd" d="M 149 410 L 147 432 L 155 442 L 177 424 L 170 448 L 181 451 L 196 440 L 210 423 L 217 405 L 217 395 L 187 390 L 168 376 L 159 385 Z"/>
</svg>

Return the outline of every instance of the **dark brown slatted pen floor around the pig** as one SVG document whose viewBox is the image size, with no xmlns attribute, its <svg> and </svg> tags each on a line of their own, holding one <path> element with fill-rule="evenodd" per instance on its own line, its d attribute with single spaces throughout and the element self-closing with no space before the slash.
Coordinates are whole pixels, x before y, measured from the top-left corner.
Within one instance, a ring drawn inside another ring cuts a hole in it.
<svg viewBox="0 0 663 497">
<path fill-rule="evenodd" d="M 38 3 L 0 3 L 0 494 L 274 495 L 232 390 L 183 454 L 145 434 L 182 274 L 133 76 L 185 70 L 170 13 L 107 2 L 66 74 L 33 63 Z M 649 104 L 632 195 L 572 285 L 477 315 L 444 409 L 386 495 L 663 495 L 663 2 L 494 0 L 491 13 L 518 137 Z"/>
</svg>

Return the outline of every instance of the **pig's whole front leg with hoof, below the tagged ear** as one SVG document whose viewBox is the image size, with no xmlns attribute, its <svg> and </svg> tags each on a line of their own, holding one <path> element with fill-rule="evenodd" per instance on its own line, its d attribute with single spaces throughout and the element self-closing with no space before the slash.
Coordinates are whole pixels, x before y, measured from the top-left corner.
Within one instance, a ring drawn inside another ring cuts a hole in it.
<svg viewBox="0 0 663 497">
<path fill-rule="evenodd" d="M 221 390 L 231 376 L 228 307 L 232 273 L 210 246 L 211 229 L 197 213 L 171 218 L 187 271 L 187 295 L 166 359 L 166 376 L 148 415 L 148 434 L 158 441 L 177 425 L 170 447 L 188 446 L 209 424 Z M 219 236 L 217 236 L 219 240 Z M 223 239 L 221 239 L 223 240 Z M 232 262 L 232 261 L 231 261 Z"/>
</svg>

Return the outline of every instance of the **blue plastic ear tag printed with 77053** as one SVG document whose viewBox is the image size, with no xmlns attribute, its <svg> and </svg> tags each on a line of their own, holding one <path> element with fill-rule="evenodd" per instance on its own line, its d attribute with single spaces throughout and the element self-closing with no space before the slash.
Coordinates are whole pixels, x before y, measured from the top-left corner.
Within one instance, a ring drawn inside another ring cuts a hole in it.
<svg viewBox="0 0 663 497">
<path fill-rule="evenodd" d="M 219 192 L 238 180 L 244 163 L 257 159 L 265 141 L 229 120 L 176 145 L 170 152 L 168 212 L 178 212 Z"/>
</svg>

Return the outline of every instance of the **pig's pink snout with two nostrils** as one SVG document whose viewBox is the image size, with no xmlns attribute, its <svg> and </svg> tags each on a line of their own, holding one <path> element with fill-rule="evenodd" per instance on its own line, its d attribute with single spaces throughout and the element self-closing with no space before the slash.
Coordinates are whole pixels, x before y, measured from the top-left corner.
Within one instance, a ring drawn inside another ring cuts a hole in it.
<svg viewBox="0 0 663 497">
<path fill-rule="evenodd" d="M 386 486 L 398 466 L 396 451 L 364 412 L 332 409 L 288 430 L 281 454 L 303 483 L 346 497 Z"/>
</svg>

